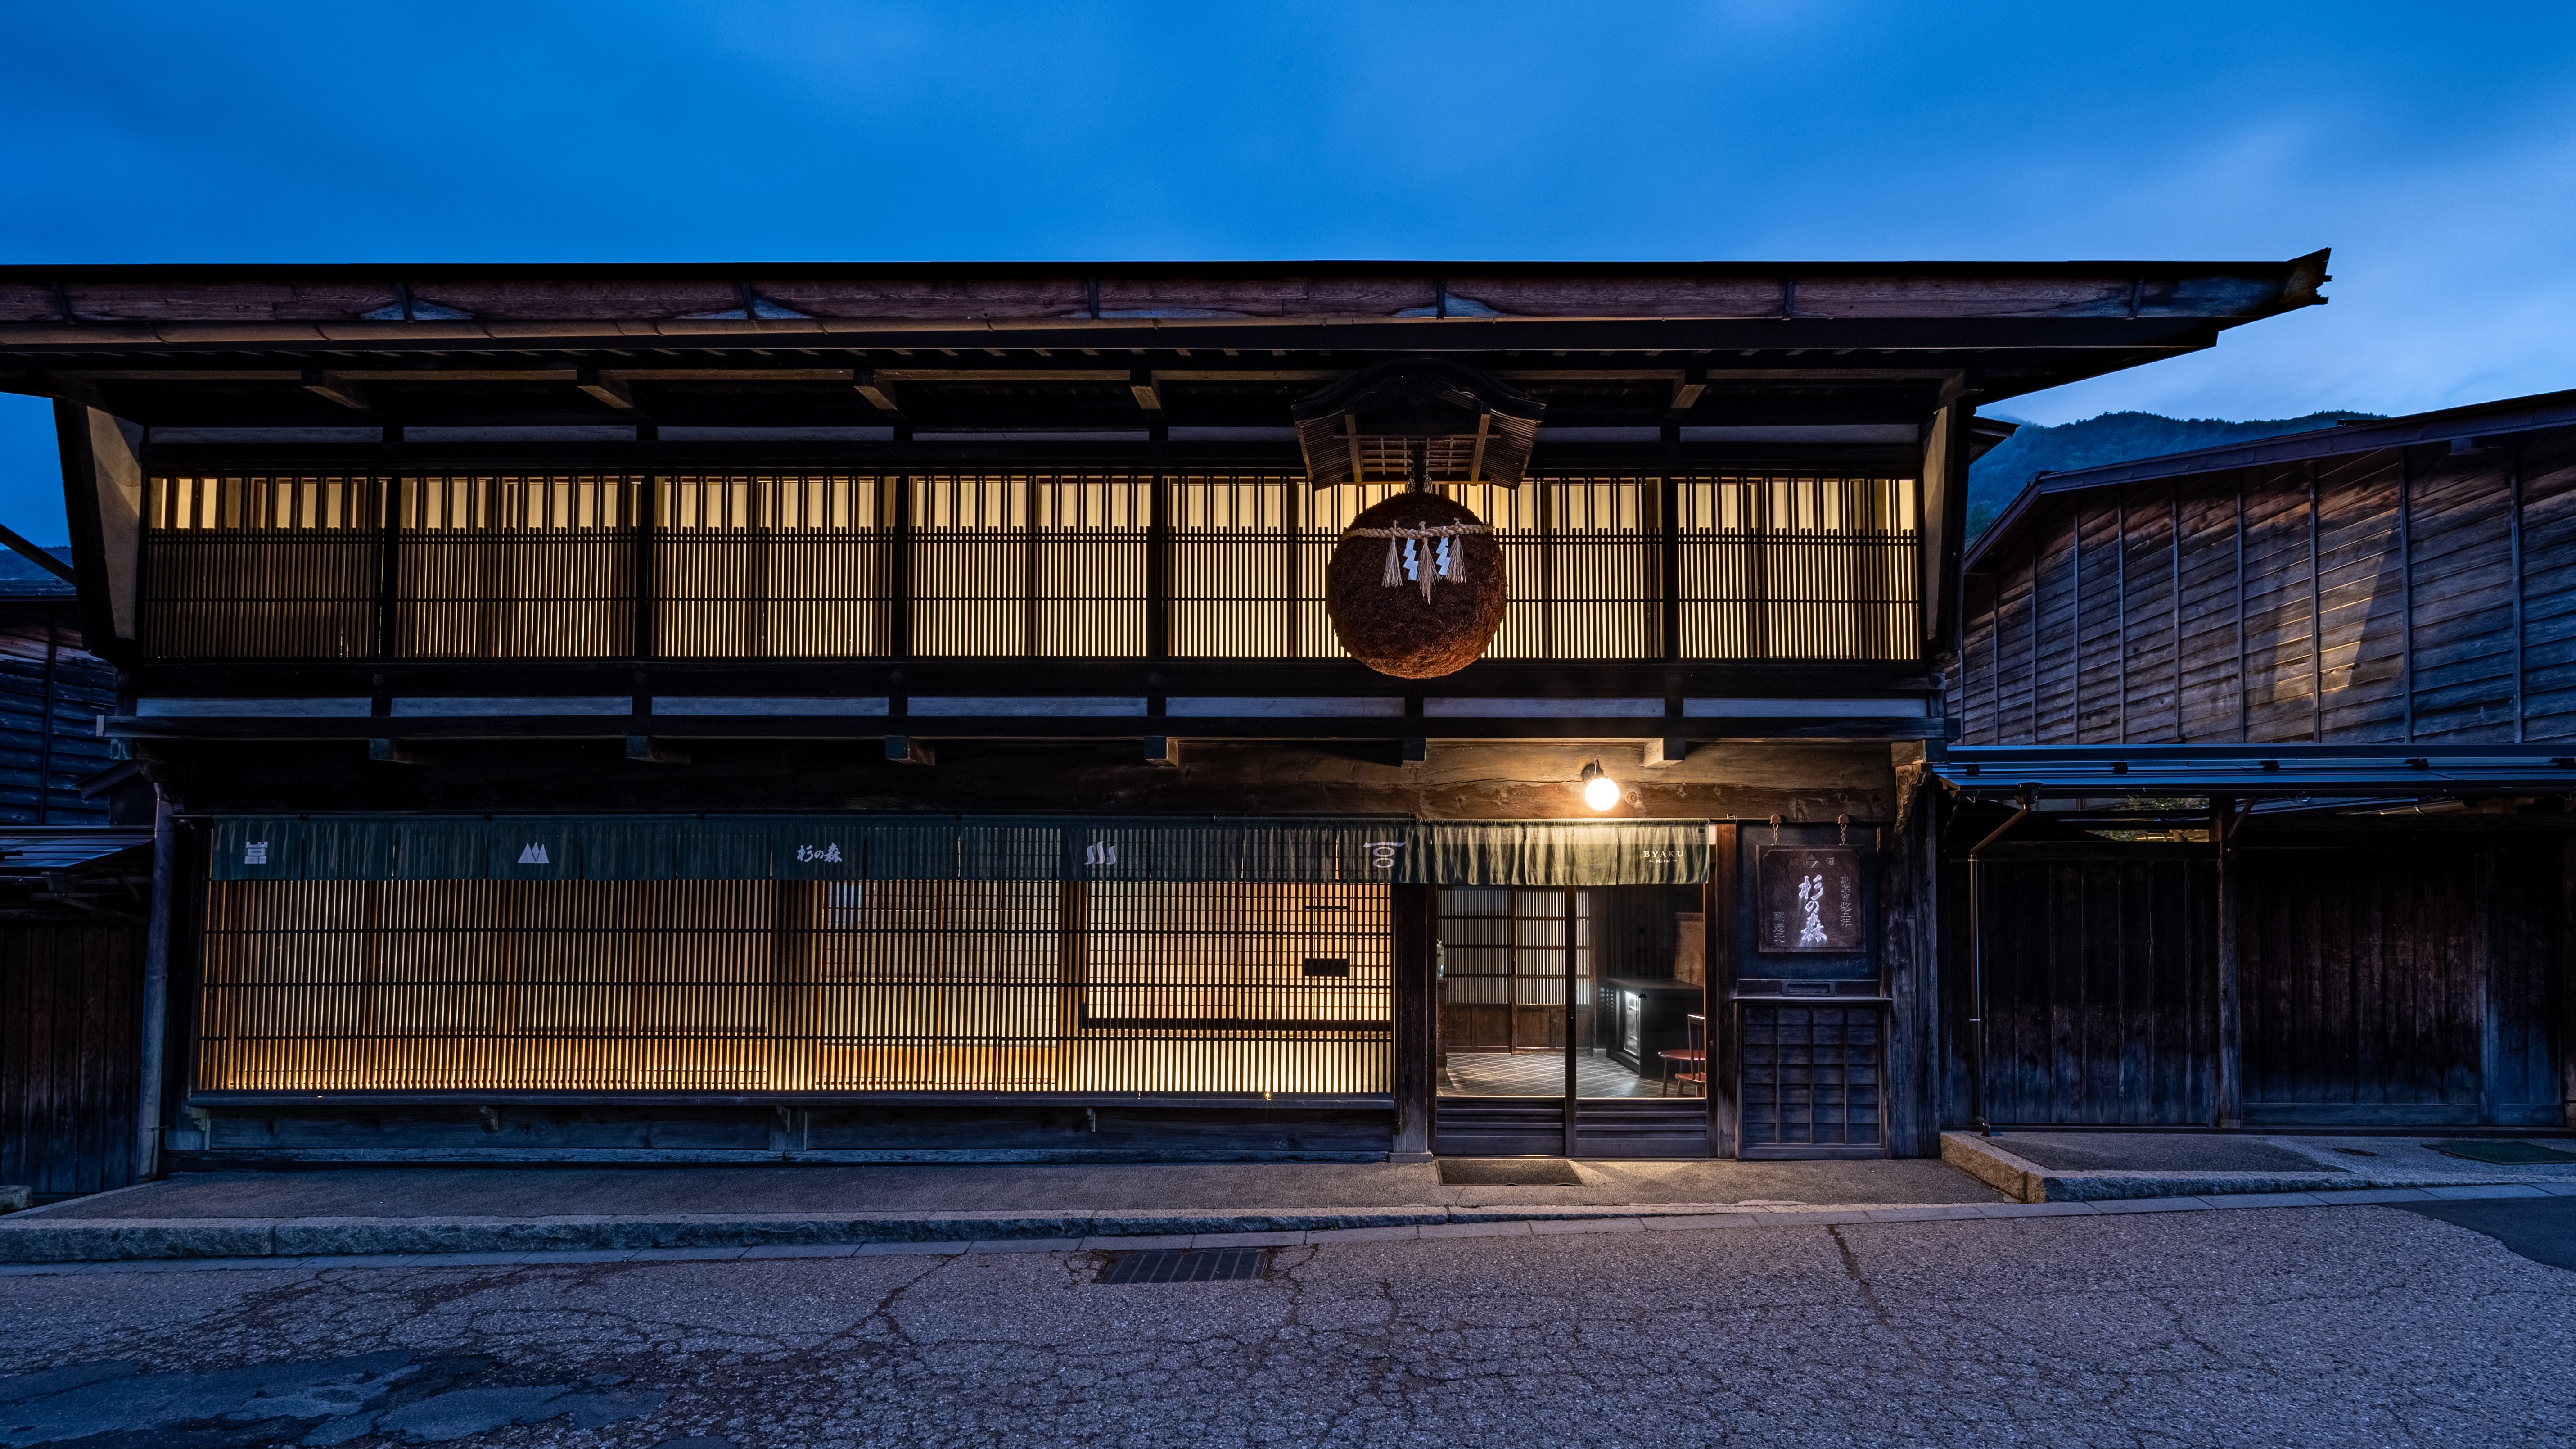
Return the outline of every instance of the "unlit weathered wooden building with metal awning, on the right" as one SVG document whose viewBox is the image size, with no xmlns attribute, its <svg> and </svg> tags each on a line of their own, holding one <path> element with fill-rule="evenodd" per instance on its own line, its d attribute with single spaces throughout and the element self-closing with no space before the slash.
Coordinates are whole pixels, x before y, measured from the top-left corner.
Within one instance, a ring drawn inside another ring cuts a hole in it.
<svg viewBox="0 0 2576 1449">
<path fill-rule="evenodd" d="M 1947 1109 L 2576 1127 L 2571 624 L 2576 392 L 2043 474 L 1935 763 Z"/>
</svg>

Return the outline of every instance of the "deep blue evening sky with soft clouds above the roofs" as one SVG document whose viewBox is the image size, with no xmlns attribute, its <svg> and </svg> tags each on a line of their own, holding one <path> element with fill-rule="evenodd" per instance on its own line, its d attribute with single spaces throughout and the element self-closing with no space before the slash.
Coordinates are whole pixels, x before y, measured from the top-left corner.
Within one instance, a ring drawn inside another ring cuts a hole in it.
<svg viewBox="0 0 2576 1449">
<path fill-rule="evenodd" d="M 2576 387 L 2576 5 L 10 5 L 0 260 L 2290 258 L 2002 413 Z M 0 521 L 62 539 L 49 405 Z"/>
</svg>

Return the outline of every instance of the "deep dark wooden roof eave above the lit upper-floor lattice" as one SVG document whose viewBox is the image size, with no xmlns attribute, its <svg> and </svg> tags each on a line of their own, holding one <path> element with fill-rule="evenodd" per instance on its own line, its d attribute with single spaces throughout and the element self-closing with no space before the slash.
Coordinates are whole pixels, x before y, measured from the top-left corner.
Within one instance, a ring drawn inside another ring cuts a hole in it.
<svg viewBox="0 0 2576 1449">
<path fill-rule="evenodd" d="M 13 266 L 0 389 L 149 425 L 1267 425 L 1437 353 L 1553 425 L 1922 420 L 2205 348 L 2324 266 Z"/>
</svg>

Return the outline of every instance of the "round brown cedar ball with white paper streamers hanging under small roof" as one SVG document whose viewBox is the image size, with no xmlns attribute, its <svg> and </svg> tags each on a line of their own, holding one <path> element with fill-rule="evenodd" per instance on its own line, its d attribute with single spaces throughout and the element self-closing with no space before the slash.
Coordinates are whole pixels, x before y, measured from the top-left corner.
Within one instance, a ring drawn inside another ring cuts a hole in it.
<svg viewBox="0 0 2576 1449">
<path fill-rule="evenodd" d="M 1510 580 L 1502 575 L 1502 547 L 1492 534 L 1458 534 L 1461 580 L 1432 578 L 1430 598 L 1422 596 L 1419 575 L 1435 572 L 1437 541 L 1414 544 L 1414 570 L 1396 572 L 1394 588 L 1386 583 L 1388 539 L 1360 536 L 1365 529 L 1440 529 L 1479 523 L 1476 513 L 1450 503 L 1437 492 L 1399 492 L 1386 503 L 1360 513 L 1342 531 L 1332 549 L 1332 567 L 1324 572 L 1324 608 L 1332 614 L 1332 632 L 1342 647 L 1363 665 L 1396 678 L 1437 678 L 1476 663 L 1476 655 L 1502 627 L 1502 608 L 1512 601 Z M 1396 541 L 1401 559 L 1404 544 Z"/>
</svg>

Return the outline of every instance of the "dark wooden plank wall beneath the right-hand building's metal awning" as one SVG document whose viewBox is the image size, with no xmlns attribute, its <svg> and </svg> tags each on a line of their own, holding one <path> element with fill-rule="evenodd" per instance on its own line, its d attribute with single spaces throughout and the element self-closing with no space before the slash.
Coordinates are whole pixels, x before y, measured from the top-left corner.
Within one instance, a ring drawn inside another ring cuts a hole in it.
<svg viewBox="0 0 2576 1449">
<path fill-rule="evenodd" d="M 2568 1124 L 2568 861 L 2555 838 L 2233 853 L 2246 1124 Z M 1984 871 L 1991 1119 L 2215 1122 L 2213 859 L 2004 846 Z M 1968 1042 L 1968 972 L 1945 990 Z M 1965 1080 L 1947 1091 L 1965 1122 Z"/>
</svg>

